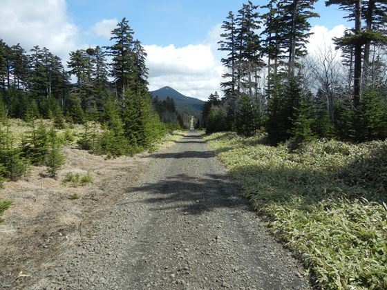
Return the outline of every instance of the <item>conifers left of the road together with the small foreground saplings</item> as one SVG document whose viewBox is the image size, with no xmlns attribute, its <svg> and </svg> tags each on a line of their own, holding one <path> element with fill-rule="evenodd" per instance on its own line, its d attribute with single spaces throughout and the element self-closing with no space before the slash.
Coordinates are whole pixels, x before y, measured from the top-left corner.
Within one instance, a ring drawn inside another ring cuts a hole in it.
<svg viewBox="0 0 387 290">
<path fill-rule="evenodd" d="M 133 35 L 122 19 L 111 46 L 70 52 L 67 70 L 47 48 L 27 53 L 0 40 L 0 182 L 18 180 L 30 164 L 46 165 L 55 177 L 64 164 L 62 144 L 74 137 L 72 124 L 84 124 L 80 148 L 110 157 L 153 148 L 169 128 L 183 125 L 173 101 L 152 101 L 147 54 Z M 30 126 L 21 140 L 11 132 L 11 118 Z M 59 129 L 64 136 L 57 136 Z"/>
</svg>

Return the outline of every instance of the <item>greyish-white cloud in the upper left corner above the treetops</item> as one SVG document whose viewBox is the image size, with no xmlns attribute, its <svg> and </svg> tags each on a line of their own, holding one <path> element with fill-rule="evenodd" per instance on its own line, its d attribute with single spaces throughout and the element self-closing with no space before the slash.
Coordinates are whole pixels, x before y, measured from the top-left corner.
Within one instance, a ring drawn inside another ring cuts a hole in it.
<svg viewBox="0 0 387 290">
<path fill-rule="evenodd" d="M 78 28 L 69 20 L 65 0 L 3 0 L 0 19 L 0 35 L 8 45 L 46 46 L 64 59 L 77 48 Z"/>
</svg>

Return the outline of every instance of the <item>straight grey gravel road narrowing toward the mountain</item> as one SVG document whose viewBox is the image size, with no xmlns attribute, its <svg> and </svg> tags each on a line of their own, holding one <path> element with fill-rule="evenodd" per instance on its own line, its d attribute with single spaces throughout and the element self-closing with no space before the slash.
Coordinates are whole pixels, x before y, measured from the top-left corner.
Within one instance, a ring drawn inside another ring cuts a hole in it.
<svg viewBox="0 0 387 290">
<path fill-rule="evenodd" d="M 195 131 L 147 172 L 33 289 L 311 289 Z"/>
</svg>

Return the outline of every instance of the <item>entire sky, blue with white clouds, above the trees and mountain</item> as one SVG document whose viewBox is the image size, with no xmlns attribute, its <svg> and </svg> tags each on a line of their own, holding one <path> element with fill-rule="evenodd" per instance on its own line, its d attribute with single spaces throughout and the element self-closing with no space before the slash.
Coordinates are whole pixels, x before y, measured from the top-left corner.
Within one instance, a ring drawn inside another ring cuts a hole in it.
<svg viewBox="0 0 387 290">
<path fill-rule="evenodd" d="M 1 0 L 0 38 L 26 50 L 46 46 L 62 57 L 79 48 L 106 46 L 110 31 L 123 17 L 147 50 L 149 88 L 171 86 L 206 99 L 219 83 L 223 68 L 217 42 L 220 26 L 236 0 Z M 308 49 L 318 50 L 350 26 L 336 7 L 318 1 Z M 264 5 L 266 1 L 253 1 Z"/>
</svg>

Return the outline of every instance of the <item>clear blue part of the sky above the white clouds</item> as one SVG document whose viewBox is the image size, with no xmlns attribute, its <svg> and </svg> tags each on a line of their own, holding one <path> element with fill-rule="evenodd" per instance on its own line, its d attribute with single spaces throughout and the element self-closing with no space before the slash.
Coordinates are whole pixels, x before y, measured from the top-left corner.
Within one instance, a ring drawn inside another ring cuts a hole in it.
<svg viewBox="0 0 387 290">
<path fill-rule="evenodd" d="M 325 7 L 325 1 L 318 1 L 316 12 L 321 17 L 310 22 L 312 26 L 323 25 L 332 29 L 346 24 L 342 12 L 337 8 Z M 229 11 L 236 13 L 245 1 L 236 0 L 68 0 L 68 13 L 77 26 L 87 30 L 101 19 L 122 19 L 126 17 L 135 36 L 144 45 L 156 44 L 177 47 L 201 43 L 216 24 L 227 17 Z M 265 3 L 265 1 L 254 1 Z M 91 43 L 104 43 L 104 39 L 85 35 Z"/>
</svg>

